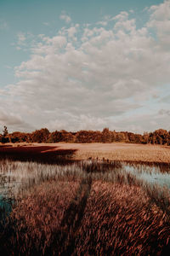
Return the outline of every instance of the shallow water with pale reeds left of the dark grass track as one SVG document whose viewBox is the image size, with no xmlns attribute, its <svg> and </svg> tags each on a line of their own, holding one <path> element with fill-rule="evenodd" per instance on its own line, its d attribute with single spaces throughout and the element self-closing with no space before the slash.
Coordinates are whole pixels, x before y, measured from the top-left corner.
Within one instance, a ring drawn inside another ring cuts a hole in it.
<svg viewBox="0 0 170 256">
<path fill-rule="evenodd" d="M 45 165 L 36 162 L 0 161 L 0 195 L 4 199 L 15 198 L 34 184 L 49 178 L 62 177 L 68 172 L 81 172 L 71 166 Z M 1 198 L 0 198 L 1 201 Z"/>
</svg>

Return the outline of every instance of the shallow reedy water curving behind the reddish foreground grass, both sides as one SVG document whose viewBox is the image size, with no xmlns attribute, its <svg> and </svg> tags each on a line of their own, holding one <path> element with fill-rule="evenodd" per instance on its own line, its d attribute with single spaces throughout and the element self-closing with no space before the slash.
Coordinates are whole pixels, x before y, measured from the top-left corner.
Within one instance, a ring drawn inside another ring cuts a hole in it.
<svg viewBox="0 0 170 256">
<path fill-rule="evenodd" d="M 86 161 L 88 163 L 88 161 Z M 88 163 L 89 165 L 92 165 Z M 101 164 L 98 163 L 100 166 Z M 169 166 L 150 166 L 150 165 L 134 165 L 121 163 L 118 166 L 118 172 L 133 174 L 137 179 L 146 181 L 150 184 L 158 184 L 160 186 L 167 186 L 170 189 L 170 170 Z M 86 166 L 86 165 L 85 165 Z M 0 222 L 12 211 L 12 205 L 18 198 L 18 195 L 25 195 L 26 191 L 32 186 L 42 183 L 45 180 L 58 177 L 66 177 L 67 175 L 83 176 L 85 166 L 78 164 L 71 164 L 65 166 L 40 164 L 36 162 L 20 162 L 11 160 L 0 161 Z M 103 167 L 101 167 L 102 169 Z M 113 177 L 114 166 L 109 170 L 108 177 Z M 88 169 L 87 169 L 88 170 Z M 87 172 L 86 170 L 86 172 Z M 93 170 L 90 169 L 90 170 Z M 102 169 L 103 172 L 107 170 Z M 90 171 L 94 172 L 94 171 Z M 94 173 L 97 177 L 99 170 Z M 123 174 L 123 175 L 124 175 Z M 101 174 L 102 175 L 102 174 Z M 102 177 L 102 176 L 99 176 Z M 114 180 L 114 179 L 113 179 Z M 113 181 L 112 180 L 112 181 Z"/>
</svg>

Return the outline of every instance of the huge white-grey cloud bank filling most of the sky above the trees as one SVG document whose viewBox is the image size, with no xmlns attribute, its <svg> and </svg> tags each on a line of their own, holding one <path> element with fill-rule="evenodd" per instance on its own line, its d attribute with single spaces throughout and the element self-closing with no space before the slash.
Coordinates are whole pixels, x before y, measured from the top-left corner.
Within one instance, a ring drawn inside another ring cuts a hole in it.
<svg viewBox="0 0 170 256">
<path fill-rule="evenodd" d="M 167 2 L 162 4 L 169 12 Z M 20 114 L 16 117 L 21 121 L 11 127 L 24 127 L 26 119 L 27 130 L 45 126 L 68 131 L 105 126 L 119 131 L 160 126 L 170 130 L 159 113 L 170 107 L 168 101 L 161 102 L 161 93 L 167 95 L 164 85 L 170 81 L 162 4 L 145 10 L 150 20 L 141 28 L 121 12 L 104 19 L 109 26 L 71 24 L 53 37 L 35 37 L 30 59 L 14 69 L 18 82 L 1 92 L 3 113 L 11 119 Z M 161 38 L 155 37 L 155 29 L 160 32 L 157 20 L 163 20 Z M 25 34 L 19 38 L 20 44 L 25 42 Z"/>
</svg>

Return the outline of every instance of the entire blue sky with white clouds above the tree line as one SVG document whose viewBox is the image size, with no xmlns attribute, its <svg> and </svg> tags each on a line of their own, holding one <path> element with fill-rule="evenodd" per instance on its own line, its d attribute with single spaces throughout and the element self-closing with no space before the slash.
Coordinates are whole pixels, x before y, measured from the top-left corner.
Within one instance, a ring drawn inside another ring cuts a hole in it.
<svg viewBox="0 0 170 256">
<path fill-rule="evenodd" d="M 170 0 L 0 0 L 0 133 L 169 119 Z"/>
</svg>

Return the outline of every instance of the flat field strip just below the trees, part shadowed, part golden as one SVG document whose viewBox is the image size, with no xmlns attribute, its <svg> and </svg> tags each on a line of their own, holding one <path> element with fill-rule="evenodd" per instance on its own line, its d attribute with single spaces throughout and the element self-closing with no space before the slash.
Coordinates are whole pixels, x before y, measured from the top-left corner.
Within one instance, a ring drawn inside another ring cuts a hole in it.
<svg viewBox="0 0 170 256">
<path fill-rule="evenodd" d="M 23 146 L 25 145 L 25 146 Z M 12 148 L 0 147 L 0 153 L 23 151 L 42 154 L 70 154 L 74 160 L 88 158 L 102 160 L 127 160 L 139 162 L 170 163 L 170 147 L 159 145 L 141 145 L 129 143 L 51 143 L 51 144 L 8 144 Z"/>
</svg>

